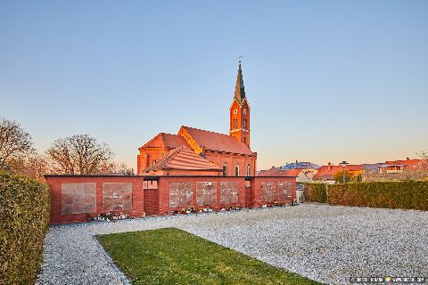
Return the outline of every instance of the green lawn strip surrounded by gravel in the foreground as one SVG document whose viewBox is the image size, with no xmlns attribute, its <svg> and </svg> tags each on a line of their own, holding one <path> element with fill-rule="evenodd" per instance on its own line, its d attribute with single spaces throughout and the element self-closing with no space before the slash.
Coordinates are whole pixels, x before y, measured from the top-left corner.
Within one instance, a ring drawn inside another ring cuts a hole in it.
<svg viewBox="0 0 428 285">
<path fill-rule="evenodd" d="M 133 284 L 318 284 L 176 228 L 97 238 Z"/>
</svg>

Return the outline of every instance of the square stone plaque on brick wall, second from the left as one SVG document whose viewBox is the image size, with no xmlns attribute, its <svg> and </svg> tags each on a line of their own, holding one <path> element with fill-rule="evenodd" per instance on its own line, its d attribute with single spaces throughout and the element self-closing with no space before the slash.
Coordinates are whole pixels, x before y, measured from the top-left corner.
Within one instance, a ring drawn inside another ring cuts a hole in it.
<svg viewBox="0 0 428 285">
<path fill-rule="evenodd" d="M 103 212 L 131 209 L 132 183 L 103 183 Z"/>
</svg>

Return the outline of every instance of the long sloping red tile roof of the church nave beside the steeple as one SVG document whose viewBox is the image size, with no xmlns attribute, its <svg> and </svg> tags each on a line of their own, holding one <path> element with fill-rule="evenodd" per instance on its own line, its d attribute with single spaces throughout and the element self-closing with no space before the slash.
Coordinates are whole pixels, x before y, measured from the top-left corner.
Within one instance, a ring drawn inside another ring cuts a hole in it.
<svg viewBox="0 0 428 285">
<path fill-rule="evenodd" d="M 188 134 L 205 150 L 224 151 L 229 153 L 240 153 L 253 155 L 254 153 L 243 142 L 238 142 L 234 137 L 227 134 L 218 134 L 204 131 L 190 126 L 182 126 Z"/>
</svg>

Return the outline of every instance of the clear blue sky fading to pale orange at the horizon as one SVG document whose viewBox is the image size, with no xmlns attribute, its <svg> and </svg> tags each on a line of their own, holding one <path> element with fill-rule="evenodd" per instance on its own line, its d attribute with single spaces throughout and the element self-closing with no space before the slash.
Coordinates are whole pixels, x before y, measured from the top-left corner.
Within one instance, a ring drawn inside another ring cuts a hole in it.
<svg viewBox="0 0 428 285">
<path fill-rule="evenodd" d="M 90 134 L 136 167 L 180 126 L 228 133 L 237 58 L 258 168 L 428 149 L 427 1 L 2 1 L 0 116 L 39 151 Z"/>
</svg>

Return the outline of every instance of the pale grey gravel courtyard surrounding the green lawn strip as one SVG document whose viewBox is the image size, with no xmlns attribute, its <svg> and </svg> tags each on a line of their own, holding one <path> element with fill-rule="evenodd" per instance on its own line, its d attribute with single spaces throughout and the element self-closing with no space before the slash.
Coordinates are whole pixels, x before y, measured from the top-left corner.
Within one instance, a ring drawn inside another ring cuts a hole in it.
<svg viewBox="0 0 428 285">
<path fill-rule="evenodd" d="M 37 284 L 122 284 L 95 234 L 177 227 L 323 283 L 428 276 L 428 212 L 301 204 L 52 226 Z"/>
</svg>

